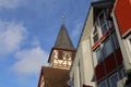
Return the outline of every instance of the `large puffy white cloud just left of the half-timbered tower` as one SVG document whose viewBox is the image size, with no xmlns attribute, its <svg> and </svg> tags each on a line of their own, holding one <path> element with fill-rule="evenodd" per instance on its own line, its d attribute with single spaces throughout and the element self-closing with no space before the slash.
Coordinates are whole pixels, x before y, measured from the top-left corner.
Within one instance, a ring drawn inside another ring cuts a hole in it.
<svg viewBox="0 0 131 87">
<path fill-rule="evenodd" d="M 19 51 L 15 55 L 17 61 L 13 65 L 13 71 L 19 75 L 38 74 L 41 65 L 47 65 L 48 54 L 40 47 Z"/>
</svg>

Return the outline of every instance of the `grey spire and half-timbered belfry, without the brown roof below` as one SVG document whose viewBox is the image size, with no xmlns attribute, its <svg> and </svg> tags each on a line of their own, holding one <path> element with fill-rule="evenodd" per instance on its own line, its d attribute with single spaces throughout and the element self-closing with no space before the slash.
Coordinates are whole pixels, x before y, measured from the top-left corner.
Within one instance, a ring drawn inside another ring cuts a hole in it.
<svg viewBox="0 0 131 87">
<path fill-rule="evenodd" d="M 49 66 L 70 70 L 74 52 L 73 44 L 64 24 L 62 24 L 48 59 Z"/>
</svg>

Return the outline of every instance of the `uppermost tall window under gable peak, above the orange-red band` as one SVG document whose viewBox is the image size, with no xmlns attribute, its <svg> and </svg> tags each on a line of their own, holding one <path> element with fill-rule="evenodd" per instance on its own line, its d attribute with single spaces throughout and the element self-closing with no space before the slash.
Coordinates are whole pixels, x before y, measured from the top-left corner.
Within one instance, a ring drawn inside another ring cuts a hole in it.
<svg viewBox="0 0 131 87">
<path fill-rule="evenodd" d="M 102 12 L 100 15 L 98 16 L 98 21 L 99 21 L 99 26 L 102 28 L 102 34 L 104 35 L 108 30 L 104 12 Z"/>
</svg>

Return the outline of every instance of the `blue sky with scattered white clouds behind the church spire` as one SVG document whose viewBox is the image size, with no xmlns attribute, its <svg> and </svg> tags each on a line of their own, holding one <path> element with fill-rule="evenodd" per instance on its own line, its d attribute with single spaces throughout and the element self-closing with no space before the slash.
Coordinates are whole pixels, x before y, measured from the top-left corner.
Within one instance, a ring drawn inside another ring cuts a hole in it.
<svg viewBox="0 0 131 87">
<path fill-rule="evenodd" d="M 0 87 L 37 87 L 64 24 L 74 47 L 92 0 L 0 0 Z"/>
</svg>

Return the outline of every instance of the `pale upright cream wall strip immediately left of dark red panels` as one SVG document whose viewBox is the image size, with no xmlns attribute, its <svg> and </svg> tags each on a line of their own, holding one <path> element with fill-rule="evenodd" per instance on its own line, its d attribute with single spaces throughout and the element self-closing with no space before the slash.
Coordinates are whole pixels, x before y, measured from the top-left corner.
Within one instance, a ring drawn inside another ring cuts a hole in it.
<svg viewBox="0 0 131 87">
<path fill-rule="evenodd" d="M 95 87 L 95 83 L 92 82 L 94 77 L 93 55 L 91 51 L 90 38 L 82 41 L 82 71 L 83 71 L 83 84 Z"/>
</svg>

